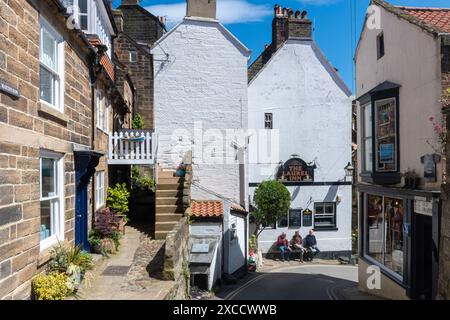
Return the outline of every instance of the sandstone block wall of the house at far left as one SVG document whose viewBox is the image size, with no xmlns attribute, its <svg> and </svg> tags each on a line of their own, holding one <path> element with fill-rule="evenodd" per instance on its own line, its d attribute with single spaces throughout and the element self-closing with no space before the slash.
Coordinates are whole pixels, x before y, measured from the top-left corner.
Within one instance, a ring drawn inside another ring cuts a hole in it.
<svg viewBox="0 0 450 320">
<path fill-rule="evenodd" d="M 20 89 L 0 93 L 0 299 L 30 296 L 31 279 L 49 251 L 40 248 L 39 154 L 64 162 L 65 240 L 74 240 L 73 143 L 90 146 L 92 131 L 88 51 L 52 1 L 0 0 L 0 79 Z M 39 102 L 39 12 L 64 37 L 64 112 Z"/>
</svg>

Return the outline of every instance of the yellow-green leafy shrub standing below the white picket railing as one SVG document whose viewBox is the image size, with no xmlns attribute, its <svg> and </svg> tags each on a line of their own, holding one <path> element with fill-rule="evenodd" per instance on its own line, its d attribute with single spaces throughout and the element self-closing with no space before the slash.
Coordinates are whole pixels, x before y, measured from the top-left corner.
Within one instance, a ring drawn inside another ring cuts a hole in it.
<svg viewBox="0 0 450 320">
<path fill-rule="evenodd" d="M 128 222 L 127 213 L 130 211 L 128 207 L 129 199 L 130 192 L 125 183 L 117 183 L 114 187 L 108 188 L 106 205 L 119 217 L 119 231 L 122 233 L 125 232 L 125 225 Z"/>
</svg>

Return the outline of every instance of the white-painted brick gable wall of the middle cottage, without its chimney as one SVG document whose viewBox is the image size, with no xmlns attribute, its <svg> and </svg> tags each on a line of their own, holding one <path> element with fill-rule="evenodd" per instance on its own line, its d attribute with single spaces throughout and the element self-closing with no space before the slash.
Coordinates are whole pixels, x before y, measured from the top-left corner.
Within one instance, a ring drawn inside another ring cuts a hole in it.
<svg viewBox="0 0 450 320">
<path fill-rule="evenodd" d="M 192 148 L 195 122 L 201 122 L 203 132 L 214 129 L 223 135 L 225 129 L 247 126 L 249 52 L 223 26 L 214 21 L 185 19 L 154 46 L 152 53 L 161 167 L 175 168 Z M 184 129 L 191 137 L 176 133 L 177 129 Z M 199 146 L 205 147 L 207 156 L 215 154 L 216 159 L 223 159 L 225 141 L 215 151 L 206 148 L 210 144 L 205 139 L 196 140 L 194 180 L 239 203 L 239 166 L 201 163 Z M 226 148 L 229 158 L 234 159 L 234 149 L 229 143 Z M 198 197 L 193 190 L 192 198 Z"/>
</svg>

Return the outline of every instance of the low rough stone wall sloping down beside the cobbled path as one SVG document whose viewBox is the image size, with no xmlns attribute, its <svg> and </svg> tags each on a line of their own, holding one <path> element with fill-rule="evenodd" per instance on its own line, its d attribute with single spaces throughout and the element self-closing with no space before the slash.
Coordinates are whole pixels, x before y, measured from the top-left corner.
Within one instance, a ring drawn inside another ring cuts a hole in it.
<svg viewBox="0 0 450 320">
<path fill-rule="evenodd" d="M 189 250 L 189 225 L 185 217 L 166 238 L 163 277 L 175 281 L 167 299 L 185 299 L 189 293 Z"/>
</svg>

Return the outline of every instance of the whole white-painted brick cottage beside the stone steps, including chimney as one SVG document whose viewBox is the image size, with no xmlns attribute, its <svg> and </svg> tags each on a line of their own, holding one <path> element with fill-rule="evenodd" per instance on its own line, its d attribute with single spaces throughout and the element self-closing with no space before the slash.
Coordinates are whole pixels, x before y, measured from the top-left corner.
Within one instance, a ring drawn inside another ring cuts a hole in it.
<svg viewBox="0 0 450 320">
<path fill-rule="evenodd" d="M 158 166 L 173 171 L 193 151 L 192 200 L 222 201 L 228 208 L 220 239 L 223 271 L 232 274 L 245 266 L 247 256 L 247 216 L 243 224 L 233 222 L 230 203 L 248 209 L 241 134 L 247 127 L 250 51 L 216 19 L 215 0 L 188 0 L 186 17 L 151 53 Z M 229 232 L 233 228 L 238 230 Z M 243 257 L 239 264 L 230 262 L 236 255 Z"/>
</svg>

